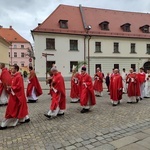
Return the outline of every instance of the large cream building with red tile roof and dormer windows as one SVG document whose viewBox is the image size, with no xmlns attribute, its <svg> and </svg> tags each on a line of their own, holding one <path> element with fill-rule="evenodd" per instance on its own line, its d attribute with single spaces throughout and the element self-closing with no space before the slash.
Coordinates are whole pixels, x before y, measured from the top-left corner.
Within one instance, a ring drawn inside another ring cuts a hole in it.
<svg viewBox="0 0 150 150">
<path fill-rule="evenodd" d="M 150 68 L 149 18 L 149 13 L 59 5 L 31 32 L 37 55 L 54 54 L 47 61 L 55 62 L 65 76 L 81 61 L 91 75 L 96 67 L 106 74 L 112 68 Z"/>
</svg>

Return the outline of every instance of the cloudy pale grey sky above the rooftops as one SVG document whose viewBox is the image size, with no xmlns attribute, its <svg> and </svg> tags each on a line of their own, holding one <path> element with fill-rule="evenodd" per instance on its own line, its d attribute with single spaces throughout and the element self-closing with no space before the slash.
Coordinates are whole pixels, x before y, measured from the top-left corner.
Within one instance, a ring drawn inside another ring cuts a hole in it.
<svg viewBox="0 0 150 150">
<path fill-rule="evenodd" d="M 0 25 L 33 43 L 30 31 L 60 4 L 150 13 L 150 0 L 0 0 Z"/>
</svg>

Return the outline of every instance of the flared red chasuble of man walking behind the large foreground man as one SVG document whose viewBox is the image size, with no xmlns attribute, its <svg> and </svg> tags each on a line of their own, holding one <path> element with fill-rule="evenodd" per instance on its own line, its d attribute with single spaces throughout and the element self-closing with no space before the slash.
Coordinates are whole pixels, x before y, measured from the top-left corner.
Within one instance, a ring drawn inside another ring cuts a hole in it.
<svg viewBox="0 0 150 150">
<path fill-rule="evenodd" d="M 27 86 L 27 96 L 31 96 L 33 87 L 35 87 L 36 96 L 42 95 L 42 89 L 34 70 L 30 72 L 29 81 L 30 83 Z"/>
</svg>

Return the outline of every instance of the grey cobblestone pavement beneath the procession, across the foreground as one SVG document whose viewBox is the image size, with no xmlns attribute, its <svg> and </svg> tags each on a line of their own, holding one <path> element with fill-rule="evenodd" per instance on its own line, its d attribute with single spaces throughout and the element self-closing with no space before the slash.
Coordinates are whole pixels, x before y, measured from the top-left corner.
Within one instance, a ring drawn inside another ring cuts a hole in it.
<svg viewBox="0 0 150 150">
<path fill-rule="evenodd" d="M 79 103 L 72 104 L 67 90 L 64 116 L 47 119 L 48 90 L 35 104 L 29 103 L 31 122 L 0 131 L 0 150 L 150 150 L 150 99 L 112 107 L 109 95 L 97 98 L 97 105 L 81 114 Z M 0 119 L 6 107 L 0 107 Z"/>
</svg>

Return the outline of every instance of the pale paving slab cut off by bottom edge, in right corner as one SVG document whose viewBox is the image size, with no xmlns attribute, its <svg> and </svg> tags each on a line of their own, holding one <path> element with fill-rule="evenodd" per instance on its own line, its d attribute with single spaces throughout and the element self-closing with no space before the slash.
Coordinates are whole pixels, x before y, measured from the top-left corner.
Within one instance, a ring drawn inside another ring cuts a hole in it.
<svg viewBox="0 0 150 150">
<path fill-rule="evenodd" d="M 125 147 L 119 148 L 117 150 L 149 150 L 149 149 L 147 149 L 143 146 L 140 146 L 137 143 L 133 143 L 133 144 L 127 145 Z"/>
</svg>

